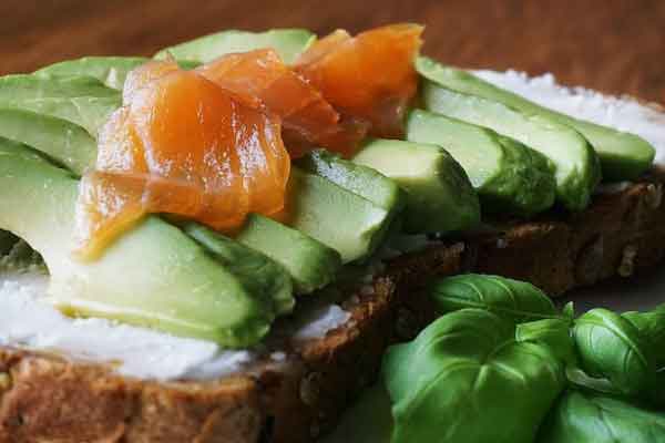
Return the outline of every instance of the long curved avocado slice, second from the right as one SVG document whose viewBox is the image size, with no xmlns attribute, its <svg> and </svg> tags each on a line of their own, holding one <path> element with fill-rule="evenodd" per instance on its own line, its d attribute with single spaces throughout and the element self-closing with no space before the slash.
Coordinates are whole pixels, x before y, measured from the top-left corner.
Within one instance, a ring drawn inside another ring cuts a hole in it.
<svg viewBox="0 0 665 443">
<path fill-rule="evenodd" d="M 431 81 L 424 82 L 422 99 L 428 111 L 487 126 L 544 154 L 555 166 L 557 200 L 570 210 L 582 210 L 589 205 L 600 183 L 601 168 L 593 147 L 577 131 Z"/>
</svg>

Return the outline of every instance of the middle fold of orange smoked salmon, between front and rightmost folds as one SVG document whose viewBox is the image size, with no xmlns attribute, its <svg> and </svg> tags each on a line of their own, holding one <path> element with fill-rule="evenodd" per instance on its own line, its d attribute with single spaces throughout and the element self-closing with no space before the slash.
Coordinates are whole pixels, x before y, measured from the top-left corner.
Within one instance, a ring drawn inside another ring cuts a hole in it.
<svg viewBox="0 0 665 443">
<path fill-rule="evenodd" d="M 197 71 L 245 104 L 278 115 L 291 158 L 315 147 L 350 156 L 367 133 L 367 124 L 341 122 L 321 93 L 272 49 L 224 55 Z"/>
</svg>

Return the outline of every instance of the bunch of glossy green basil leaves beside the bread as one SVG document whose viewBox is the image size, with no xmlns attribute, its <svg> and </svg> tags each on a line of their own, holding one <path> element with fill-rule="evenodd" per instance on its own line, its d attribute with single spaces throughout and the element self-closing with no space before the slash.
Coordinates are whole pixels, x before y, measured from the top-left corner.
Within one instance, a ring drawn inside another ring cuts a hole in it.
<svg viewBox="0 0 665 443">
<path fill-rule="evenodd" d="M 530 284 L 481 275 L 431 297 L 442 316 L 383 360 L 392 443 L 665 442 L 665 306 L 575 319 Z"/>
</svg>

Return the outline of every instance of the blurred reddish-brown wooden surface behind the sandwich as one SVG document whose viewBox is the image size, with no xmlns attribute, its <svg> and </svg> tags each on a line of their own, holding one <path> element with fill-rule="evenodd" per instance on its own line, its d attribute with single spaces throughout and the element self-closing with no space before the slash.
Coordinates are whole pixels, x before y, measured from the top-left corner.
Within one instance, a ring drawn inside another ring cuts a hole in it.
<svg viewBox="0 0 665 443">
<path fill-rule="evenodd" d="M 0 0 L 0 73 L 85 54 L 145 54 L 227 28 L 358 31 L 427 24 L 448 63 L 532 74 L 665 103 L 664 0 Z"/>
</svg>

